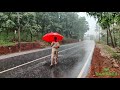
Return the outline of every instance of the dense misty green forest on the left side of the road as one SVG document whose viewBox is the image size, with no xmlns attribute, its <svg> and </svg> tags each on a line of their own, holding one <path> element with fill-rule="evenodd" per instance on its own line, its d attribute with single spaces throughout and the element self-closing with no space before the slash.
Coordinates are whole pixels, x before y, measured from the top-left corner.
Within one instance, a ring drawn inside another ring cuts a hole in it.
<svg viewBox="0 0 120 90">
<path fill-rule="evenodd" d="M 83 39 L 88 29 L 85 18 L 76 12 L 0 12 L 0 44 L 18 42 L 19 38 L 21 42 L 41 40 L 51 31 Z"/>
</svg>

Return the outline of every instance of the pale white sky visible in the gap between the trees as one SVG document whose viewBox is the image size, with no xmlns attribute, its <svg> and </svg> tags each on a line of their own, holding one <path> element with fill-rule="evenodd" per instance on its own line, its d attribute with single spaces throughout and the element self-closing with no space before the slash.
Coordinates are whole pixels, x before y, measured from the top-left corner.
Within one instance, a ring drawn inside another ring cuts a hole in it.
<svg viewBox="0 0 120 90">
<path fill-rule="evenodd" d="M 93 34 L 95 35 L 95 27 L 96 27 L 96 20 L 94 19 L 94 17 L 90 17 L 87 15 L 86 12 L 79 12 L 78 15 L 80 17 L 85 17 L 86 18 L 86 21 L 88 21 L 88 24 L 89 24 L 89 30 L 86 32 L 86 34 Z"/>
</svg>

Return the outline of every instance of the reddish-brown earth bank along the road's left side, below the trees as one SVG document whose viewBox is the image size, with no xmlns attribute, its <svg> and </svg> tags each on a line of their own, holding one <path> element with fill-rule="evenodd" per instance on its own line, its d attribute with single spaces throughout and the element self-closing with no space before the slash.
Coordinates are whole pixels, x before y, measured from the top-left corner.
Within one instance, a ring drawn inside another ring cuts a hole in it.
<svg viewBox="0 0 120 90">
<path fill-rule="evenodd" d="M 61 45 L 64 44 L 70 44 L 70 43 L 75 43 L 78 42 L 78 40 L 74 39 L 66 39 L 60 42 Z M 50 43 L 47 43 L 45 41 L 35 41 L 35 42 L 21 42 L 20 44 L 20 49 L 18 43 L 15 45 L 11 46 L 0 46 L 0 55 L 6 55 L 6 54 L 11 54 L 11 53 L 17 53 L 19 50 L 22 51 L 29 51 L 29 50 L 35 50 L 35 49 L 42 49 L 49 47 Z"/>
</svg>

